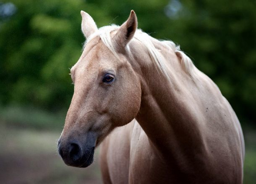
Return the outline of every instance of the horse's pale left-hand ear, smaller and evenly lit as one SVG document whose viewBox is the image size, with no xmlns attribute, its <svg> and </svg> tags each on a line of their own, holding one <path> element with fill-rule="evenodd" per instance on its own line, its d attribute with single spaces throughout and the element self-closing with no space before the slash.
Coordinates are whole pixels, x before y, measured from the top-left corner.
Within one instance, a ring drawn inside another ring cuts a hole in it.
<svg viewBox="0 0 256 184">
<path fill-rule="evenodd" d="M 94 32 L 96 32 L 98 30 L 98 28 L 97 28 L 97 25 L 95 24 L 94 20 L 88 13 L 86 13 L 82 10 L 81 15 L 82 15 L 81 28 L 82 28 L 83 35 L 87 39 L 90 35 L 92 35 Z"/>
</svg>

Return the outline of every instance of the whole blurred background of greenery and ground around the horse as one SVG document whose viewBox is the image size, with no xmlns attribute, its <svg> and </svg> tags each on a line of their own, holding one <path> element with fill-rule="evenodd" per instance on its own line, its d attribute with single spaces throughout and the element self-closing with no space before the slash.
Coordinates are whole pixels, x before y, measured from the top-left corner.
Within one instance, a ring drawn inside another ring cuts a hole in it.
<svg viewBox="0 0 256 184">
<path fill-rule="evenodd" d="M 85 41 L 80 10 L 98 27 L 124 22 L 173 40 L 219 86 L 242 124 L 244 183 L 256 180 L 256 1 L 0 0 L 0 183 L 101 183 L 98 159 L 71 168 L 57 154 Z M 97 157 L 97 156 L 96 156 Z"/>
</svg>

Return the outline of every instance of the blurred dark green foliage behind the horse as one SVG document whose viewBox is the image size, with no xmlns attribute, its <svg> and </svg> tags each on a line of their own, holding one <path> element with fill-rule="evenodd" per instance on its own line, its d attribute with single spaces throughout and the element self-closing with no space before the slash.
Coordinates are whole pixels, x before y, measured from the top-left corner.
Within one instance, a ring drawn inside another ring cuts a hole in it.
<svg viewBox="0 0 256 184">
<path fill-rule="evenodd" d="M 9 1 L 7 1 L 9 2 Z M 242 122 L 255 123 L 256 2 L 227 0 L 12 0 L 0 14 L 0 103 L 67 109 L 69 68 L 81 55 L 80 10 L 98 27 L 135 10 L 139 28 L 182 46 L 220 87 Z M 3 5 L 3 4 L 2 4 Z M 0 4 L 1 7 L 1 4 Z"/>
</svg>

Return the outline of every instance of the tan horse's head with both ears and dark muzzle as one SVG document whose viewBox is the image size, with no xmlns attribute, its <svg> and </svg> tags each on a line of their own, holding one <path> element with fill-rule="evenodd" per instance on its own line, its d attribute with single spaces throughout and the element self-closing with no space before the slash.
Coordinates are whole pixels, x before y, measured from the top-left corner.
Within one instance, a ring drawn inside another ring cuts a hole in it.
<svg viewBox="0 0 256 184">
<path fill-rule="evenodd" d="M 103 43 L 95 22 L 81 11 L 87 43 L 71 69 L 74 94 L 67 112 L 58 151 L 67 165 L 87 167 L 94 148 L 117 126 L 129 123 L 139 111 L 140 79 L 128 62 L 127 43 L 137 28 L 134 11 L 111 31 L 111 52 Z"/>
</svg>

